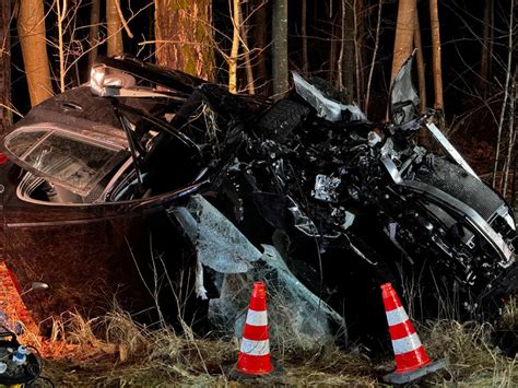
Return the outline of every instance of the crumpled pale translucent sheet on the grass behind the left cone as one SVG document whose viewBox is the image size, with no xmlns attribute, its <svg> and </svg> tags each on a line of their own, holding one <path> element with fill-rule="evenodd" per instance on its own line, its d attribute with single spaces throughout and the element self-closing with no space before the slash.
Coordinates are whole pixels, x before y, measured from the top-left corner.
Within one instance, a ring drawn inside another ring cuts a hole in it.
<svg viewBox="0 0 518 388">
<path fill-rule="evenodd" d="M 254 281 L 268 285 L 268 319 L 273 345 L 301 349 L 320 348 L 335 339 L 335 332 L 346 337 L 343 317 L 311 293 L 290 271 L 279 251 L 263 245 L 261 260 L 243 274 L 225 274 L 221 297 L 209 302 L 209 319 L 219 330 L 240 337 Z M 346 340 L 346 338 L 345 338 Z"/>
</svg>

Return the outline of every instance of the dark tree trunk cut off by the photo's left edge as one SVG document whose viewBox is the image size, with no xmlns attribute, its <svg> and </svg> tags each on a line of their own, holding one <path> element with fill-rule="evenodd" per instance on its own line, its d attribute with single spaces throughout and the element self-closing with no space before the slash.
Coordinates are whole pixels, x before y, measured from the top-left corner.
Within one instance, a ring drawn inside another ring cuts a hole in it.
<svg viewBox="0 0 518 388">
<path fill-rule="evenodd" d="M 12 121 L 12 115 L 9 110 L 11 105 L 10 21 L 11 1 L 2 1 L 0 3 L 0 43 L 2 45 L 0 54 L 0 134 L 5 131 L 5 128 Z"/>
</svg>

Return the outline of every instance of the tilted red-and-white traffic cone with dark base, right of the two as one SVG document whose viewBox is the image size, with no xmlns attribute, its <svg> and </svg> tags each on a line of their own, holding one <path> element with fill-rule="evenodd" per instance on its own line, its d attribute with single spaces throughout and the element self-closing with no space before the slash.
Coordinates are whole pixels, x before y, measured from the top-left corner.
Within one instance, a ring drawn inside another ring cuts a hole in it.
<svg viewBox="0 0 518 388">
<path fill-rule="evenodd" d="M 382 284 L 381 291 L 396 361 L 396 371 L 384 376 L 384 379 L 387 383 L 404 384 L 445 367 L 444 361 L 429 360 L 392 284 Z"/>
</svg>

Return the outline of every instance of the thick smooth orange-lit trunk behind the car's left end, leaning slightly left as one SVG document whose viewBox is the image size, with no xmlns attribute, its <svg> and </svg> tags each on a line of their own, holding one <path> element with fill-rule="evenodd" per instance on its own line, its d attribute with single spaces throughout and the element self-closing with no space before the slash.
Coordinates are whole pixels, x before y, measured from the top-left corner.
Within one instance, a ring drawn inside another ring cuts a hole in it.
<svg viewBox="0 0 518 388">
<path fill-rule="evenodd" d="M 52 96 L 43 0 L 20 1 L 17 33 L 22 45 L 31 105 L 34 106 Z"/>
</svg>

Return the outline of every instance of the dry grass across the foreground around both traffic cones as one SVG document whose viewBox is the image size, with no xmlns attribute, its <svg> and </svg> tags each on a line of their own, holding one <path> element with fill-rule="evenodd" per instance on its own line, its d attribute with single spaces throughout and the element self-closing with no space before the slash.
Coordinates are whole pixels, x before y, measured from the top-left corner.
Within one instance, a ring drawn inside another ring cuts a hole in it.
<svg viewBox="0 0 518 388">
<path fill-rule="evenodd" d="M 510 316 L 505 316 L 507 324 L 518 321 L 515 307 L 516 302 L 509 306 Z M 517 360 L 491 344 L 488 325 L 439 320 L 420 331 L 428 353 L 448 363 L 447 369 L 425 377 L 421 385 L 518 385 Z M 118 309 L 91 320 L 63 315 L 42 350 L 47 357 L 44 375 L 59 386 L 239 386 L 225 368 L 236 360 L 236 339 L 198 338 L 187 325 L 181 334 L 164 325 L 150 329 Z M 274 349 L 273 357 L 285 371 L 283 384 L 297 386 L 377 386 L 393 367 L 391 357 L 373 362 L 334 346 L 301 353 Z"/>
</svg>

